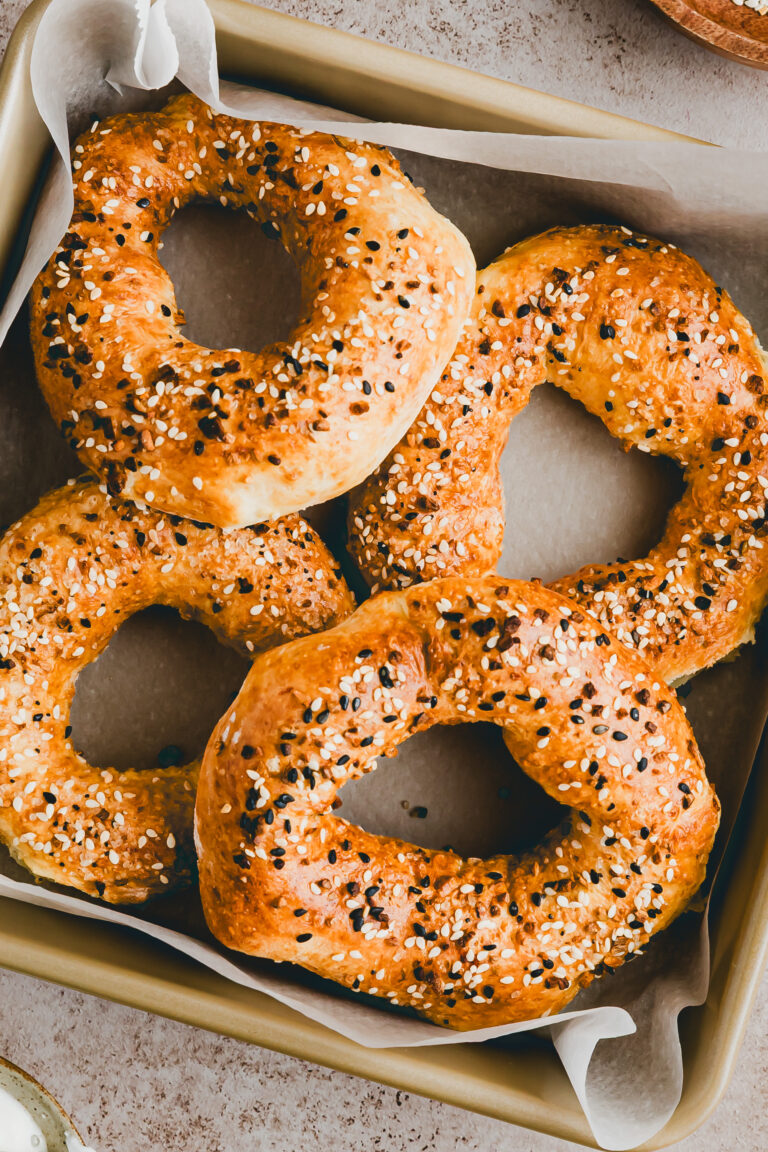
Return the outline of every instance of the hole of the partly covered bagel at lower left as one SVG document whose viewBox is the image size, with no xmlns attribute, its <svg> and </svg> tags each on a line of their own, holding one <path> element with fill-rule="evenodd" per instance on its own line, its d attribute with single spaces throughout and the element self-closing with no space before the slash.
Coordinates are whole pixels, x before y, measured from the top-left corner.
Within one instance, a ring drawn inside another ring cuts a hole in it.
<svg viewBox="0 0 768 1152">
<path fill-rule="evenodd" d="M 201 756 L 249 662 L 173 608 L 136 613 L 77 679 L 73 743 L 119 771 Z"/>
</svg>

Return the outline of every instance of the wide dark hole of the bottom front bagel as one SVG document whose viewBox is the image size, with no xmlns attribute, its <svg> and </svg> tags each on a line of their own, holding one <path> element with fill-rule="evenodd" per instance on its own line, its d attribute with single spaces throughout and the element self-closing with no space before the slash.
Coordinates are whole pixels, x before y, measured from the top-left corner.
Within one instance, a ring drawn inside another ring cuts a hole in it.
<svg viewBox="0 0 768 1152">
<path fill-rule="evenodd" d="M 525 775 L 492 723 L 411 736 L 339 799 L 336 814 L 366 832 L 462 856 L 525 851 L 567 812 Z"/>
</svg>

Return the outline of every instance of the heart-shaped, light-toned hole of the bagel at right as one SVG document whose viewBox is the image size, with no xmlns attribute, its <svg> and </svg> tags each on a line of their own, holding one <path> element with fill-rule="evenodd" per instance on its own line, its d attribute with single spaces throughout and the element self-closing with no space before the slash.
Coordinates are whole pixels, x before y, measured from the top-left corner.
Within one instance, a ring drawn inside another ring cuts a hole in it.
<svg viewBox="0 0 768 1152">
<path fill-rule="evenodd" d="M 534 388 L 514 420 L 501 475 L 499 571 L 519 579 L 646 555 L 684 490 L 672 460 L 624 452 L 596 416 L 552 384 Z"/>
</svg>

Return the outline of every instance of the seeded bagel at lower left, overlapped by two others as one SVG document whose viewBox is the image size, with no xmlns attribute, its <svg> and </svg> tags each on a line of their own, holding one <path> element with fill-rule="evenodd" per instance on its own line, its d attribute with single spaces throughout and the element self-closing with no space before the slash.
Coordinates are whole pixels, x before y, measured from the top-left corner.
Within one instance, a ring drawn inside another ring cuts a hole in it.
<svg viewBox="0 0 768 1152">
<path fill-rule="evenodd" d="M 114 903 L 187 881 L 197 764 L 116 772 L 70 742 L 75 681 L 132 613 L 195 617 L 253 653 L 352 601 L 298 516 L 222 533 L 115 500 L 48 493 L 0 543 L 0 840 L 40 879 Z"/>
</svg>

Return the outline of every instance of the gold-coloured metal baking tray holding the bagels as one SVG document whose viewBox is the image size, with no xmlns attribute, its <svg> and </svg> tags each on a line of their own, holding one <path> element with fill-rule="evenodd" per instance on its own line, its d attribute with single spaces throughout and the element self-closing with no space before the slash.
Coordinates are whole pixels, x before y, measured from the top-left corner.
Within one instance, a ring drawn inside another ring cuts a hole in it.
<svg viewBox="0 0 768 1152">
<path fill-rule="evenodd" d="M 33 0 L 0 70 L 0 268 L 7 286 L 50 147 L 29 79 Z M 637 141 L 676 136 L 242 0 L 208 0 L 225 75 L 377 120 Z M 712 983 L 680 1017 L 680 1104 L 644 1149 L 692 1132 L 715 1107 L 768 952 L 768 757 L 760 755 L 713 897 Z M 138 933 L 0 899 L 0 965 L 595 1147 L 547 1045 L 368 1049 Z"/>
</svg>

